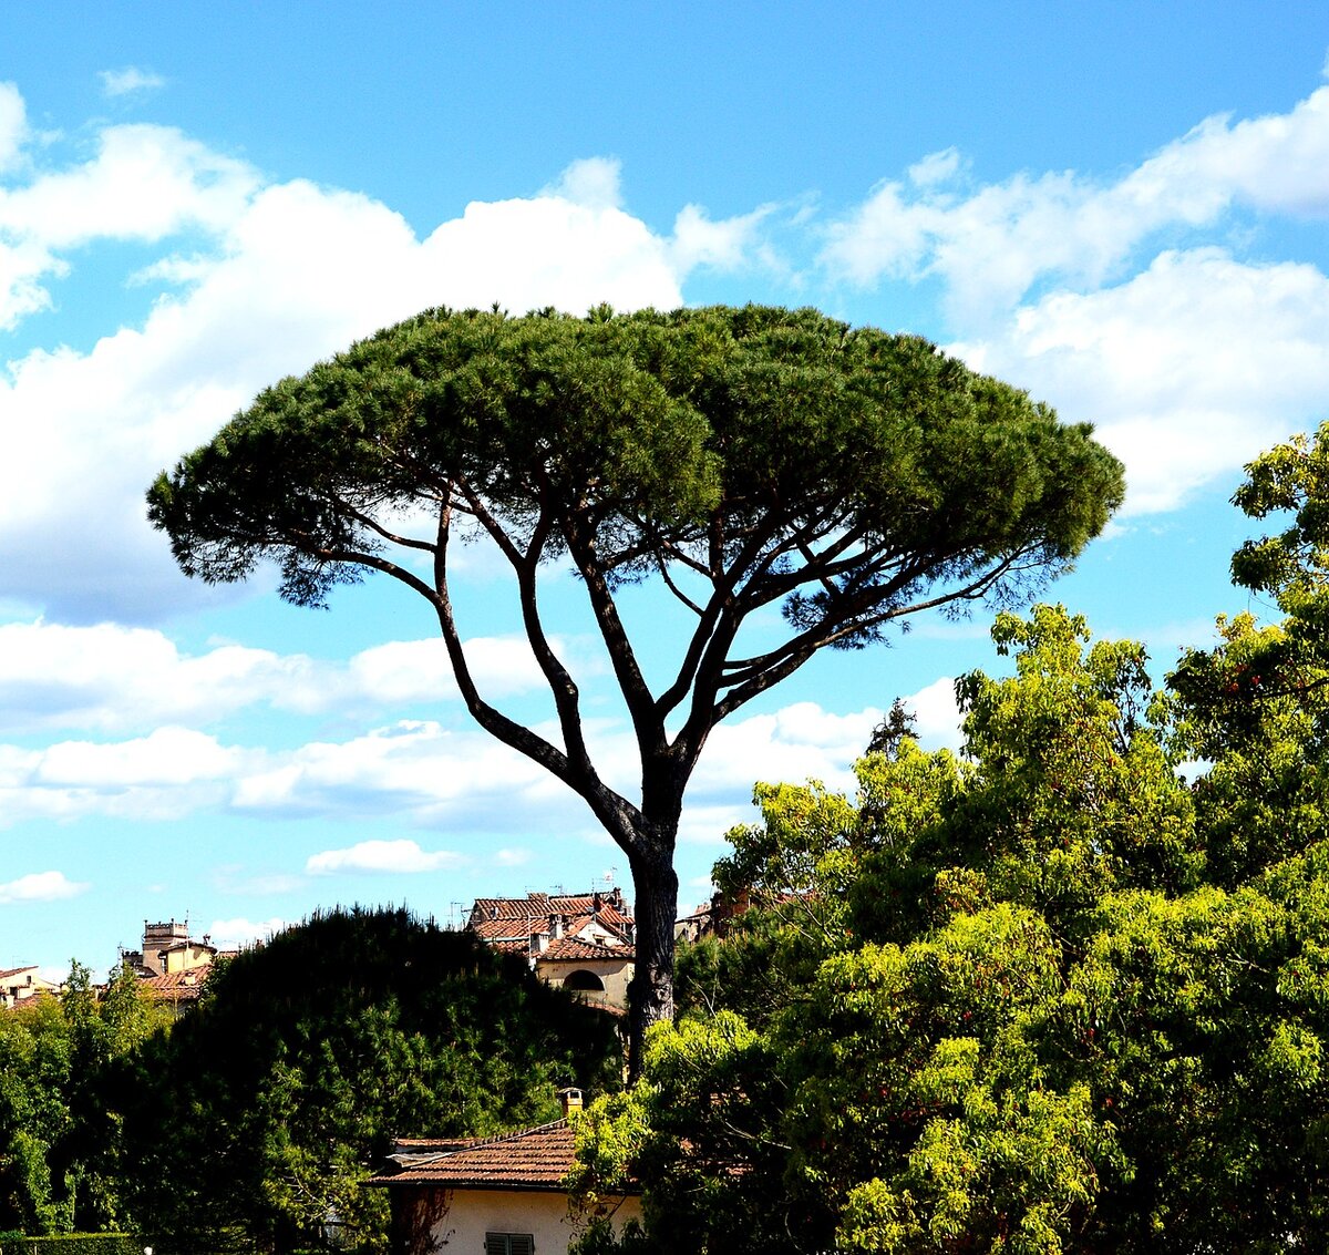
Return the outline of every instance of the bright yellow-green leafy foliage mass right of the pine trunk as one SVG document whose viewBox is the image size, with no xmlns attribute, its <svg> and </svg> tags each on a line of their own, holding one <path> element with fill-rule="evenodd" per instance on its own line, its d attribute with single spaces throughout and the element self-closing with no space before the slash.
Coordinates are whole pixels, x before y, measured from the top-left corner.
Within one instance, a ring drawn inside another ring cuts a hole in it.
<svg viewBox="0 0 1329 1255">
<path fill-rule="evenodd" d="M 582 1129 L 582 1191 L 647 1183 L 638 1247 L 1322 1248 L 1321 468 L 1329 431 L 1252 465 L 1239 504 L 1296 517 L 1233 572 L 1286 618 L 1220 621 L 1166 691 L 1061 608 L 1003 614 L 962 756 L 896 726 L 853 799 L 759 787 L 716 867 L 750 909 Z"/>
</svg>

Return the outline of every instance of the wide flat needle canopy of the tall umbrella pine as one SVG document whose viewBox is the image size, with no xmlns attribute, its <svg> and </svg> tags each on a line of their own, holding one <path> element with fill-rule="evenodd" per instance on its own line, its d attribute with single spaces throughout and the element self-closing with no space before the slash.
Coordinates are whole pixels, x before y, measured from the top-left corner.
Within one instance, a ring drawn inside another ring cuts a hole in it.
<svg viewBox="0 0 1329 1255">
<path fill-rule="evenodd" d="M 621 580 L 828 524 L 930 580 L 934 561 L 953 578 L 1014 552 L 1063 562 L 1120 495 L 1087 425 L 917 336 L 758 306 L 440 308 L 262 392 L 149 504 L 187 573 L 238 580 L 275 557 L 286 596 L 318 602 L 384 548 L 385 511 L 453 496 L 520 548 L 556 518 L 544 557 L 579 541 Z M 825 596 L 788 614 L 815 618 Z"/>
</svg>

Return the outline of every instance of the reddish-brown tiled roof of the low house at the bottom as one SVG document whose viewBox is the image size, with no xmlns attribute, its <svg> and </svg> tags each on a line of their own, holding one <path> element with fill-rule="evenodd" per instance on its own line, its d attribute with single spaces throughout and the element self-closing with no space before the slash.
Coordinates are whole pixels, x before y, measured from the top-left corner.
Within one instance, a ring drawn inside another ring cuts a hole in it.
<svg viewBox="0 0 1329 1255">
<path fill-rule="evenodd" d="M 375 1177 L 372 1185 L 562 1190 L 563 1178 L 573 1166 L 573 1130 L 566 1119 L 560 1119 L 505 1137 L 473 1141 L 436 1155 L 401 1153 L 393 1161 L 403 1165 L 401 1170 Z"/>
</svg>

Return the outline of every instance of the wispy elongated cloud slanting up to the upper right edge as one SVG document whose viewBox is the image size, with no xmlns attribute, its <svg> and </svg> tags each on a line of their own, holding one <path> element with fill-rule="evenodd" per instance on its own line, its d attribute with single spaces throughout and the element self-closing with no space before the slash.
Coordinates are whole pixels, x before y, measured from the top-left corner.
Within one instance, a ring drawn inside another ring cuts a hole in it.
<svg viewBox="0 0 1329 1255">
<path fill-rule="evenodd" d="M 855 283 L 936 275 L 952 312 L 985 327 L 1038 282 L 1092 287 L 1164 227 L 1215 222 L 1232 206 L 1329 213 L 1329 88 L 1289 113 L 1211 117 L 1114 183 L 1018 173 L 969 187 L 948 150 L 889 181 L 829 231 L 823 262 Z"/>
</svg>

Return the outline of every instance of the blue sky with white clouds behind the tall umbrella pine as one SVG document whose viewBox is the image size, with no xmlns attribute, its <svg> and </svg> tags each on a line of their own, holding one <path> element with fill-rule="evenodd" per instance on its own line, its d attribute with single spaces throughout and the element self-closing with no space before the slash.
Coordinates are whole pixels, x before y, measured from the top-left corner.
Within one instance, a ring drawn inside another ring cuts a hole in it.
<svg viewBox="0 0 1329 1255">
<path fill-rule="evenodd" d="M 922 332 L 1127 464 L 1047 596 L 1159 675 L 1261 612 L 1227 582 L 1227 501 L 1329 417 L 1326 53 L 1329 11 L 1292 3 L 0 9 L 0 968 L 104 969 L 145 917 L 239 943 L 339 901 L 447 919 L 626 883 L 468 725 L 423 604 L 206 589 L 144 521 L 153 475 L 260 387 L 424 306 L 764 300 Z M 478 552 L 462 593 L 490 690 L 548 718 Z M 981 614 L 918 622 L 722 727 L 683 900 L 756 779 L 847 783 L 894 697 L 957 743 L 974 666 Z"/>
</svg>

